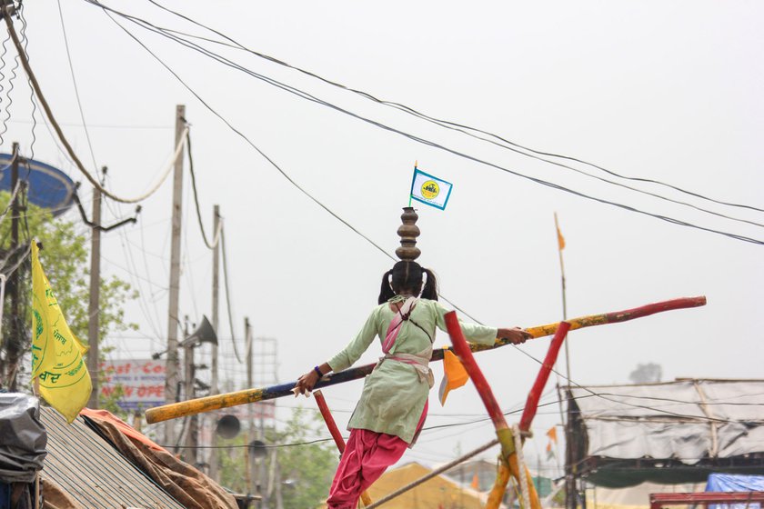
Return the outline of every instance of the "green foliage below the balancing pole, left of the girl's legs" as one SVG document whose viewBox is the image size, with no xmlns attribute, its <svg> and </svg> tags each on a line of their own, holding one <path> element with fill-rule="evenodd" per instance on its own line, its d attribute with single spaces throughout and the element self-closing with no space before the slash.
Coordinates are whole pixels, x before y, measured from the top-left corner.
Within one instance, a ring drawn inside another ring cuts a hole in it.
<svg viewBox="0 0 764 509">
<path fill-rule="evenodd" d="M 337 470 L 337 449 L 331 441 L 310 443 L 317 435 L 324 434 L 326 431 L 320 417 L 311 417 L 302 409 L 294 411 L 284 429 L 266 430 L 266 444 L 293 444 L 268 448 L 265 460 L 268 476 L 280 483 L 284 507 L 319 507 L 326 500 Z M 220 444 L 230 446 L 221 449 L 219 454 L 221 484 L 236 493 L 246 494 L 246 449 L 242 447 L 246 444 L 246 431 L 232 440 L 221 440 Z M 273 464 L 274 461 L 277 464 Z M 257 479 L 259 468 L 255 463 L 252 462 L 253 480 Z M 253 485 L 255 483 L 253 481 Z M 268 489 L 271 505 L 274 505 L 276 486 L 264 489 Z"/>
</svg>

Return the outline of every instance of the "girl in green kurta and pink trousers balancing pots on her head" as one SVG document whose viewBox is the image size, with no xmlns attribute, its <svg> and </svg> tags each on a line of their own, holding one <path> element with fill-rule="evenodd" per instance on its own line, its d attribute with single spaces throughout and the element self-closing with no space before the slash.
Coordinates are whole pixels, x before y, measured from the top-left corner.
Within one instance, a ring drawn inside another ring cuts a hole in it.
<svg viewBox="0 0 764 509">
<path fill-rule="evenodd" d="M 347 425 L 350 437 L 329 490 L 328 509 L 355 508 L 360 494 L 415 443 L 427 416 L 433 385 L 427 364 L 436 327 L 446 331 L 447 309 L 437 303 L 435 274 L 413 261 L 398 262 L 382 276 L 378 303 L 356 338 L 327 363 L 300 376 L 294 389 L 296 395 L 309 393 L 324 374 L 354 364 L 375 336 L 382 341 L 384 357 L 367 376 Z M 478 344 L 494 344 L 497 337 L 519 344 L 529 337 L 518 327 L 461 326 L 467 340 Z"/>
</svg>

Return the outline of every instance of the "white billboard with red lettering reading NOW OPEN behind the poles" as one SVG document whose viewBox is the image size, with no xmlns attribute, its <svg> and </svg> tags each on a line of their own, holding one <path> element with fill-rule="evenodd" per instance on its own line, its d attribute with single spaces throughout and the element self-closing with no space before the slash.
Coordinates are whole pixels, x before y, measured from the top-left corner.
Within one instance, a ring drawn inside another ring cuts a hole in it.
<svg viewBox="0 0 764 509">
<path fill-rule="evenodd" d="M 140 410 L 165 404 L 164 360 L 108 361 L 101 364 L 101 369 L 106 376 L 101 396 L 109 397 L 119 387 L 122 395 L 117 404 L 121 409 Z"/>
</svg>

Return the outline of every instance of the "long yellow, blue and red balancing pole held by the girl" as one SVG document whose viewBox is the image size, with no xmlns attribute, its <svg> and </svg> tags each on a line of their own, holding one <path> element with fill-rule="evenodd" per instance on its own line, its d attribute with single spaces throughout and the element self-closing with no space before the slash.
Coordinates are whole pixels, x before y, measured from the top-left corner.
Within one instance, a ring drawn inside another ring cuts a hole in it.
<svg viewBox="0 0 764 509">
<path fill-rule="evenodd" d="M 662 313 L 689 307 L 698 307 L 705 304 L 706 297 L 704 296 L 685 297 L 655 304 L 647 304 L 633 309 L 627 309 L 613 313 L 590 314 L 587 316 L 570 319 L 568 320 L 568 323 L 570 324 L 570 330 L 576 330 L 596 325 L 627 322 L 628 320 L 642 318 L 650 314 Z M 553 324 L 530 327 L 526 330 L 528 334 L 530 334 L 533 338 L 538 338 L 555 334 L 555 332 L 557 332 L 558 326 L 559 323 L 556 322 Z M 492 346 L 470 344 L 469 348 L 473 352 L 482 352 L 485 350 L 491 350 L 501 346 L 506 346 L 507 344 L 510 344 L 507 339 L 498 338 L 496 344 L 493 344 Z M 443 350 L 435 350 L 432 354 L 431 360 L 442 361 Z M 375 364 L 367 364 L 356 368 L 350 368 L 336 374 L 327 374 L 324 376 L 324 378 L 318 381 L 316 388 L 320 389 L 330 385 L 342 384 L 350 380 L 364 378 L 372 372 L 374 366 Z M 156 406 L 155 408 L 146 410 L 146 423 L 154 424 L 166 421 L 168 419 L 176 419 L 186 415 L 210 412 L 213 410 L 219 410 L 221 408 L 236 406 L 238 404 L 256 403 L 258 401 L 264 401 L 267 399 L 275 399 L 284 397 L 286 395 L 294 395 L 292 393 L 292 388 L 294 388 L 294 386 L 295 382 L 289 382 L 288 384 L 278 384 L 263 388 L 252 388 L 246 389 L 244 391 L 237 391 L 234 393 L 216 394 L 180 403 Z"/>
</svg>

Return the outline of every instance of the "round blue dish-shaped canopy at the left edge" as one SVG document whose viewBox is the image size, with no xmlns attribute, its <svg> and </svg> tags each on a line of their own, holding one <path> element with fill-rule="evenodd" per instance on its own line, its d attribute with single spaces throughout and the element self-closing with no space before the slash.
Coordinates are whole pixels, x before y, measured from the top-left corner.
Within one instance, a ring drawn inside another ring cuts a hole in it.
<svg viewBox="0 0 764 509">
<path fill-rule="evenodd" d="M 12 154 L 0 154 L 0 191 L 13 192 L 11 185 Z M 75 183 L 64 172 L 34 159 L 22 159 L 18 178 L 28 184 L 29 203 L 45 208 L 53 215 L 64 214 L 74 203 Z"/>
</svg>

